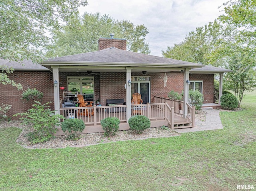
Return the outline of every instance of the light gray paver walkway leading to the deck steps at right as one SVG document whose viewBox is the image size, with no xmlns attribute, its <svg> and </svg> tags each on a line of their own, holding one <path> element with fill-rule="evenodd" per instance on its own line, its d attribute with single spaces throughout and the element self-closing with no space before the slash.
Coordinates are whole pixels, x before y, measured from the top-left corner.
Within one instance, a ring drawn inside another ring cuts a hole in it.
<svg viewBox="0 0 256 191">
<path fill-rule="evenodd" d="M 220 110 L 211 109 L 211 110 L 204 110 L 204 111 L 207 112 L 206 121 L 196 120 L 194 128 L 176 129 L 175 131 L 178 133 L 188 133 L 188 132 L 196 132 L 196 131 L 223 129 L 223 126 L 220 120 Z"/>
</svg>

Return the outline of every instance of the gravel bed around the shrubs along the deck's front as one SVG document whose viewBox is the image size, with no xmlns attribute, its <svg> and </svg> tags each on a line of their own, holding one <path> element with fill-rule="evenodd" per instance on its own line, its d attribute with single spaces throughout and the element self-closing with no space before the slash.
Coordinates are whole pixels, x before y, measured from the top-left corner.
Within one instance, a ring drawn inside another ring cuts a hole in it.
<svg viewBox="0 0 256 191">
<path fill-rule="evenodd" d="M 196 111 L 196 120 L 205 121 L 206 112 L 202 110 Z M 164 130 L 161 127 L 148 128 L 142 134 L 134 134 L 131 130 L 118 131 L 113 137 L 105 137 L 104 133 L 90 133 L 82 134 L 82 137 L 78 141 L 66 140 L 66 136 L 56 136 L 52 140 L 49 140 L 45 143 L 39 144 L 30 144 L 26 138 L 26 134 L 29 132 L 29 127 L 22 125 L 20 120 L 16 121 L 2 121 L 0 122 L 0 128 L 3 127 L 17 127 L 22 129 L 22 133 L 16 140 L 17 143 L 21 144 L 25 148 L 66 148 L 66 147 L 82 147 L 89 146 L 94 144 L 102 144 L 115 141 L 124 141 L 124 140 L 141 140 L 146 138 L 160 138 L 160 137 L 170 137 L 178 136 L 179 134 L 170 129 Z"/>
</svg>

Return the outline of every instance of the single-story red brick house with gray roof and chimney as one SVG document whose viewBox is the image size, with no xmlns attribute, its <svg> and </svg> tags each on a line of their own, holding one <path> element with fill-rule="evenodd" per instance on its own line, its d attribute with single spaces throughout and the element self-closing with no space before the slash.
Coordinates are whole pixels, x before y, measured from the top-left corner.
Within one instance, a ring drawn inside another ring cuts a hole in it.
<svg viewBox="0 0 256 191">
<path fill-rule="evenodd" d="M 107 99 L 123 98 L 127 108 L 123 119 L 126 122 L 124 129 L 127 128 L 128 119 L 132 116 L 132 93 L 140 93 L 143 105 L 146 105 L 158 102 L 156 100 L 161 97 L 168 98 L 168 92 L 171 90 L 179 93 L 184 91 L 180 116 L 187 118 L 188 89 L 198 89 L 204 94 L 204 103 L 213 103 L 214 74 L 220 74 L 221 96 L 222 75 L 231 72 L 218 67 L 126 51 L 125 39 L 100 38 L 98 43 L 98 51 L 56 57 L 43 61 L 40 65 L 32 64 L 31 61 L 24 61 L 22 65 L 5 60 L 1 60 L 0 64 L 12 66 L 15 71 L 9 75 L 10 79 L 21 83 L 23 90 L 29 87 L 42 91 L 42 102 L 52 102 L 51 108 L 61 114 L 66 113 L 62 108 L 62 102 L 65 99 L 74 100 L 74 96 L 65 93 L 72 88 L 77 88 L 85 101 L 99 100 L 104 109 L 102 111 L 110 107 L 106 106 Z M 64 90 L 60 90 L 60 87 L 64 87 Z M 22 91 L 10 85 L 0 85 L 0 89 L 1 102 L 12 105 L 8 115 L 28 110 L 30 106 L 21 100 Z M 90 110 L 95 108 L 95 105 L 93 108 L 88 107 Z M 97 107 L 94 116 L 98 115 L 98 108 L 100 107 Z M 152 109 L 153 105 L 150 108 Z M 94 130 L 88 132 L 102 131 L 98 119 L 97 122 L 95 120 L 96 117 L 91 117 L 85 121 L 86 124 L 94 126 Z M 159 120 L 155 123 L 155 126 L 166 124 L 159 123 Z"/>
</svg>

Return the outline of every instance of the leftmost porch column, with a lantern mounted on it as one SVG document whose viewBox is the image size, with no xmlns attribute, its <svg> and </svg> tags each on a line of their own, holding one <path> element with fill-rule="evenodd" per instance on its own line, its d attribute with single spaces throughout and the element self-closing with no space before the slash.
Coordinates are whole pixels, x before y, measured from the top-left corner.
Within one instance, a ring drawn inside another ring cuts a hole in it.
<svg viewBox="0 0 256 191">
<path fill-rule="evenodd" d="M 59 66 L 52 66 L 53 72 L 53 89 L 54 89 L 54 110 L 56 114 L 60 114 L 60 90 L 59 90 Z M 54 85 L 54 81 L 58 82 L 57 87 Z"/>
</svg>

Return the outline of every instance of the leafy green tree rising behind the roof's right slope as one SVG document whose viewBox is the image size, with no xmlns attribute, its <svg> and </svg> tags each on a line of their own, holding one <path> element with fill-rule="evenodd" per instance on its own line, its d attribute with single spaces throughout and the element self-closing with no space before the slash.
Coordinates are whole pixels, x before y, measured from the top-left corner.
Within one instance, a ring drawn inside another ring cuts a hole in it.
<svg viewBox="0 0 256 191">
<path fill-rule="evenodd" d="M 166 51 L 162 50 L 162 55 L 172 59 L 218 66 L 218 61 L 213 60 L 211 54 L 218 47 L 218 41 L 223 35 L 223 26 L 215 20 L 188 33 L 181 43 L 168 46 Z"/>
</svg>

